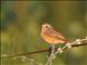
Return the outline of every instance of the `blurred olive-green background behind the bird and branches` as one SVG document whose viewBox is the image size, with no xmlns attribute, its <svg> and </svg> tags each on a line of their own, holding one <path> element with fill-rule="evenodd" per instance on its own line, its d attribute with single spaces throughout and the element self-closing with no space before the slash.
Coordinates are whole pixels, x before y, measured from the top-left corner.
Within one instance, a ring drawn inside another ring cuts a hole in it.
<svg viewBox="0 0 87 65">
<path fill-rule="evenodd" d="M 42 23 L 50 23 L 71 41 L 87 36 L 87 1 L 1 1 L 1 54 L 48 49 L 40 38 Z M 26 55 L 44 65 L 48 53 Z M 2 65 L 33 65 L 30 61 L 2 60 Z M 53 65 L 87 65 L 87 47 L 59 54 Z"/>
</svg>

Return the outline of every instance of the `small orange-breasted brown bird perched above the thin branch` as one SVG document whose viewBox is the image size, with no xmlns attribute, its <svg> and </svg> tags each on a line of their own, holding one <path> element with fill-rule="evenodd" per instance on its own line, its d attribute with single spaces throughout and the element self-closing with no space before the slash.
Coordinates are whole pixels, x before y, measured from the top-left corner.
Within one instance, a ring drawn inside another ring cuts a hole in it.
<svg viewBox="0 0 87 65">
<path fill-rule="evenodd" d="M 59 30 L 54 29 L 50 24 L 45 23 L 41 26 L 41 38 L 50 44 L 58 44 L 58 43 L 67 43 L 70 42 L 65 39 Z"/>
</svg>

